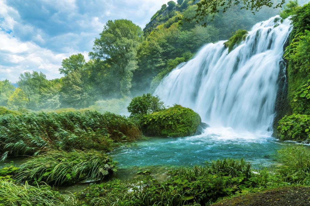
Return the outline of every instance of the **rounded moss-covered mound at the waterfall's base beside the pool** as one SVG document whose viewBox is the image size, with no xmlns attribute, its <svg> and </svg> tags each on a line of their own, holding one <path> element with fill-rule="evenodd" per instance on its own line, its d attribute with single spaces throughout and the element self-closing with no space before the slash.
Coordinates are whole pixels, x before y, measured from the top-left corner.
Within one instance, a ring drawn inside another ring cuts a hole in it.
<svg viewBox="0 0 310 206">
<path fill-rule="evenodd" d="M 142 131 L 146 135 L 184 137 L 194 135 L 201 118 L 192 109 L 174 105 L 159 112 L 144 115 Z"/>
</svg>

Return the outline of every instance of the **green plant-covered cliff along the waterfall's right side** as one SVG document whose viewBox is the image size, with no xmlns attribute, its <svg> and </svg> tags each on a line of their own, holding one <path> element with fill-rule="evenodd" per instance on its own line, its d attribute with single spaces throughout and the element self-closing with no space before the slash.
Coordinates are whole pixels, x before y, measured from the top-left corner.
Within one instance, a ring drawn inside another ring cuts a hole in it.
<svg viewBox="0 0 310 206">
<path fill-rule="evenodd" d="M 278 122 L 279 136 L 283 140 L 309 141 L 310 119 L 310 4 L 298 6 L 290 1 L 281 13 L 292 15 L 294 26 L 290 34 L 290 44 L 285 51 L 288 75 L 289 108 Z"/>
</svg>

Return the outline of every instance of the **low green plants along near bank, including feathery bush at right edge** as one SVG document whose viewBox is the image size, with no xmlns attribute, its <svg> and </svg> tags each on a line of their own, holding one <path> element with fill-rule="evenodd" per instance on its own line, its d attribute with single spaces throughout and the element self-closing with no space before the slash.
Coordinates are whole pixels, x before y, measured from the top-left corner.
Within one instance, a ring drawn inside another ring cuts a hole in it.
<svg viewBox="0 0 310 206">
<path fill-rule="evenodd" d="M 206 166 L 179 168 L 157 182 L 151 176 L 131 181 L 113 179 L 91 184 L 83 193 L 92 205 L 208 205 L 222 197 L 288 185 L 310 185 L 309 152 L 300 147 L 281 150 L 286 166 L 252 169 L 243 159 L 211 161 Z"/>
</svg>

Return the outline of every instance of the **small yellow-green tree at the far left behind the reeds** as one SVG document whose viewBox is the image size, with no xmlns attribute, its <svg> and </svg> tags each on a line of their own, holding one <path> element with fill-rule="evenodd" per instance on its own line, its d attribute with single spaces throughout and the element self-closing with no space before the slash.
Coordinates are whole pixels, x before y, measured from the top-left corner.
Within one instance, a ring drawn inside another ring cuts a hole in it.
<svg viewBox="0 0 310 206">
<path fill-rule="evenodd" d="M 21 88 L 16 88 L 13 94 L 9 97 L 7 105 L 11 109 L 24 109 L 28 104 L 28 98 Z"/>
</svg>

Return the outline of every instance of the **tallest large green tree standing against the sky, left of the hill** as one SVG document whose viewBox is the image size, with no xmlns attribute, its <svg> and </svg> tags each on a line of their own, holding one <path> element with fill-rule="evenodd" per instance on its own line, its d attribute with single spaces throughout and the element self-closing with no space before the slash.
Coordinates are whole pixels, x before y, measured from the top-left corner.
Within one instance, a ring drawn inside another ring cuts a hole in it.
<svg viewBox="0 0 310 206">
<path fill-rule="evenodd" d="M 142 41 L 142 29 L 132 21 L 109 20 L 89 53 L 92 59 L 109 61 L 111 78 L 120 83 L 122 96 L 130 93 L 132 71 L 137 68 L 137 47 Z"/>
</svg>

